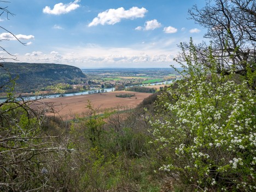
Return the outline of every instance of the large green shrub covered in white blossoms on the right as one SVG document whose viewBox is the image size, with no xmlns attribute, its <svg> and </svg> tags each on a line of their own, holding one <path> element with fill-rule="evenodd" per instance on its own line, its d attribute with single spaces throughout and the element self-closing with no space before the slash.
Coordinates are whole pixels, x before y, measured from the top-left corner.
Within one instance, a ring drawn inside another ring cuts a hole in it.
<svg viewBox="0 0 256 192">
<path fill-rule="evenodd" d="M 255 191 L 255 91 L 235 74 L 217 74 L 197 63 L 193 44 L 186 79 L 159 96 L 154 142 L 165 151 L 159 170 L 198 191 Z"/>
</svg>

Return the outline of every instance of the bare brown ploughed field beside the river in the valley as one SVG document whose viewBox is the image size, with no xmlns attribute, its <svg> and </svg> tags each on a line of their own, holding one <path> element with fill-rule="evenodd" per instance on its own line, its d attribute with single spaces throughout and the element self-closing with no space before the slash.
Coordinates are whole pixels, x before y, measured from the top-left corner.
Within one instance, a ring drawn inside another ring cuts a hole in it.
<svg viewBox="0 0 256 192">
<path fill-rule="evenodd" d="M 120 98 L 115 95 L 119 94 L 135 94 L 135 96 L 129 98 Z M 45 98 L 34 102 L 31 107 L 34 109 L 44 108 L 44 104 L 52 104 L 56 112 L 59 113 L 63 120 L 71 120 L 78 115 L 83 117 L 88 109 L 86 109 L 86 104 L 88 100 L 91 104 L 103 111 L 107 108 L 113 108 L 117 106 L 124 106 L 129 108 L 136 107 L 139 103 L 143 101 L 144 98 L 151 94 L 144 92 L 132 92 L 132 91 L 114 91 L 114 92 L 104 92 L 102 94 L 89 94 L 89 95 L 77 95 L 69 97 L 57 97 L 57 98 Z"/>
</svg>

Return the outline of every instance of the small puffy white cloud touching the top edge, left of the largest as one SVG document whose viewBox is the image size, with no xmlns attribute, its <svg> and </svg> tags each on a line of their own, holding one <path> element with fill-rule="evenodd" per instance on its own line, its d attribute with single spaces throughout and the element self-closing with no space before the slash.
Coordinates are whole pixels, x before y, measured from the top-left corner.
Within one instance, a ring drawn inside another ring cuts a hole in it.
<svg viewBox="0 0 256 192">
<path fill-rule="evenodd" d="M 79 8 L 80 7 L 80 5 L 78 4 L 79 2 L 80 0 L 75 0 L 74 2 L 70 2 L 67 4 L 57 3 L 54 5 L 53 9 L 51 9 L 49 6 L 46 6 L 43 9 L 43 13 L 52 14 L 52 15 L 66 14 L 72 10 Z"/>
</svg>

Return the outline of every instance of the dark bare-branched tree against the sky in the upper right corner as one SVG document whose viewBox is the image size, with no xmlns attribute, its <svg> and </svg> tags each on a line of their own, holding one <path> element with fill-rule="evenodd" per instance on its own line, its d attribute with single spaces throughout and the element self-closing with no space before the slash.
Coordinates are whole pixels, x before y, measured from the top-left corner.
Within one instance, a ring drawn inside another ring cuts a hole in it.
<svg viewBox="0 0 256 192">
<path fill-rule="evenodd" d="M 256 63 L 256 4 L 254 0 L 213 0 L 199 9 L 189 10 L 196 24 L 207 28 L 212 54 L 218 61 L 218 73 L 231 71 L 246 75 L 248 68 L 255 71 Z M 189 44 L 184 43 L 184 48 Z M 203 42 L 196 46 L 198 59 L 207 67 L 210 49 Z M 181 55 L 180 55 L 181 56 Z M 182 56 L 180 57 L 182 60 Z"/>
</svg>

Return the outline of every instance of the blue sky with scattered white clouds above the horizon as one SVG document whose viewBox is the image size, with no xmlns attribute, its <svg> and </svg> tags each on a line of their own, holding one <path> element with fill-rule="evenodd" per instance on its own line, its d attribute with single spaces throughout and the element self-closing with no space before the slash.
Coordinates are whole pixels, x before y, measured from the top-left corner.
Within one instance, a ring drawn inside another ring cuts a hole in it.
<svg viewBox="0 0 256 192">
<path fill-rule="evenodd" d="M 79 68 L 170 67 L 177 44 L 203 40 L 189 20 L 202 0 L 9 0 L 0 7 L 1 58 Z M 21 44 L 16 38 L 20 40 Z M 4 59 L 6 62 L 13 62 Z"/>
</svg>

